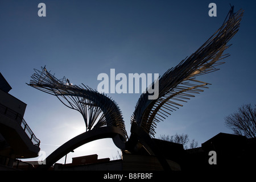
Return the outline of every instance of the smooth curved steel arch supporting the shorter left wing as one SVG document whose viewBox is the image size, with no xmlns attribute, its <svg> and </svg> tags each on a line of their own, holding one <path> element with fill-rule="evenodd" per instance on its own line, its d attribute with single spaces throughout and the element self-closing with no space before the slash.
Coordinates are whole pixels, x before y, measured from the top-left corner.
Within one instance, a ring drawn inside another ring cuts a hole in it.
<svg viewBox="0 0 256 182">
<path fill-rule="evenodd" d="M 104 138 L 112 138 L 113 142 L 118 148 L 125 147 L 125 135 L 121 129 L 118 129 L 118 127 L 115 126 L 99 127 L 90 131 L 86 131 L 68 140 L 68 142 L 64 143 L 55 151 L 53 151 L 44 160 L 43 164 L 36 168 L 36 170 L 46 170 L 72 150 L 75 150 L 76 148 L 86 143 Z"/>
</svg>

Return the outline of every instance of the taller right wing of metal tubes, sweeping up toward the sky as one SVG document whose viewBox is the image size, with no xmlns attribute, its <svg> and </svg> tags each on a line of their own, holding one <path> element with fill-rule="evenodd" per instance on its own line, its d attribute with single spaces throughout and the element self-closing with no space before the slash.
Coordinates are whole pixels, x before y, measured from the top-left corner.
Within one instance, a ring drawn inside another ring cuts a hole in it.
<svg viewBox="0 0 256 182">
<path fill-rule="evenodd" d="M 171 111 L 183 106 L 181 102 L 187 102 L 190 97 L 195 97 L 194 94 L 207 88 L 209 83 L 196 80 L 196 77 L 217 71 L 216 67 L 224 63 L 220 60 L 229 56 L 223 53 L 230 47 L 227 43 L 240 27 L 243 11 L 240 10 L 236 14 L 230 11 L 228 15 L 229 19 L 203 46 L 159 78 L 159 97 L 156 100 L 148 100 L 148 92 L 142 94 L 131 117 L 131 124 L 136 123 L 154 137 L 156 123 L 166 119 Z"/>
</svg>

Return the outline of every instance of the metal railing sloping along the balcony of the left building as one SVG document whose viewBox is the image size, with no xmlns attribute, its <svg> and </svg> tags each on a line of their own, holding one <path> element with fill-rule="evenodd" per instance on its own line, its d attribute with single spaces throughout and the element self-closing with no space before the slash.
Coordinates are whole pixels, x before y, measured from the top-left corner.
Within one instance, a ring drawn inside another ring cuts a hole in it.
<svg viewBox="0 0 256 182">
<path fill-rule="evenodd" d="M 35 134 L 32 132 L 30 127 L 27 125 L 26 121 L 22 118 L 22 115 L 17 113 L 16 111 L 0 104 L 0 113 L 6 115 L 7 117 L 14 119 L 24 130 L 24 132 L 27 134 L 28 138 L 30 138 L 31 142 L 39 147 L 40 140 L 35 137 Z"/>
</svg>

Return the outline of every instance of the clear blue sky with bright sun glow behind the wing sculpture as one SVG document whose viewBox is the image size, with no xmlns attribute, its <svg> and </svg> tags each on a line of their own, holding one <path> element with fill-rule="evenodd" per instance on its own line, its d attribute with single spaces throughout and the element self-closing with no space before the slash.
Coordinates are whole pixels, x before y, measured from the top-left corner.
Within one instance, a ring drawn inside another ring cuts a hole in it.
<svg viewBox="0 0 256 182">
<path fill-rule="evenodd" d="M 38 4 L 46 4 L 46 17 Z M 209 17 L 209 3 L 217 16 Z M 54 96 L 26 85 L 34 68 L 46 65 L 57 78 L 97 89 L 100 73 L 159 73 L 191 55 L 224 22 L 232 3 L 245 10 L 240 31 L 229 42 L 230 57 L 220 71 L 198 79 L 212 85 L 164 122 L 160 134 L 188 134 L 199 144 L 232 133 L 224 117 L 242 104 L 255 104 L 255 1 L 0 1 L 0 72 L 10 94 L 27 104 L 24 119 L 48 156 L 57 146 L 85 131 L 80 113 Z M 122 110 L 127 133 L 140 94 L 108 94 Z M 117 155 L 111 139 L 99 140 L 68 154 Z M 36 160 L 36 159 L 30 159 Z M 59 162 L 64 162 L 61 159 Z"/>
</svg>

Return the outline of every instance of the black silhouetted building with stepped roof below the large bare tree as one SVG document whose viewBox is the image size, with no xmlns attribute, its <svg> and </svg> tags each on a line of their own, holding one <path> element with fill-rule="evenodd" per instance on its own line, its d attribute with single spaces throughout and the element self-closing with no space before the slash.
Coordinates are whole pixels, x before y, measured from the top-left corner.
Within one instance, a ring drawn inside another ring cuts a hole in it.
<svg viewBox="0 0 256 182">
<path fill-rule="evenodd" d="M 216 152 L 217 164 L 210 165 L 209 152 Z M 247 170 L 256 169 L 256 138 L 219 133 L 201 144 L 199 148 L 187 150 L 188 170 Z"/>
</svg>

